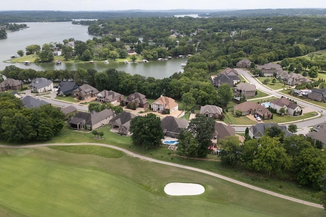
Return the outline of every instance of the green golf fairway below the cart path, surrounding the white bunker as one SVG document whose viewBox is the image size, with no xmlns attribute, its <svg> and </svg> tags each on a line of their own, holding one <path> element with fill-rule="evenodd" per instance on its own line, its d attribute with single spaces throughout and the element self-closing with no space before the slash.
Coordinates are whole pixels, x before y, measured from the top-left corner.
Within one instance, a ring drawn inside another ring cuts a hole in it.
<svg viewBox="0 0 326 217">
<path fill-rule="evenodd" d="M 87 149 L 93 151 L 91 146 Z M 80 147 L 76 150 L 80 152 Z M 0 162 L 1 216 L 321 216 L 325 212 L 126 154 L 104 158 L 48 147 L 0 148 Z M 205 193 L 166 195 L 165 185 L 175 181 L 202 184 Z"/>
</svg>

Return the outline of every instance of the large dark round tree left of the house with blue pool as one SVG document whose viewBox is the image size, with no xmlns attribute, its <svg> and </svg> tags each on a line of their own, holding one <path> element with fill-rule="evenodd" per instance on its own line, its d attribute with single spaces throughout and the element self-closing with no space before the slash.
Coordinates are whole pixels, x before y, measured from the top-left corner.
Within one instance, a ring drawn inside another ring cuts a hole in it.
<svg viewBox="0 0 326 217">
<path fill-rule="evenodd" d="M 132 118 L 130 132 L 132 143 L 145 149 L 161 145 L 164 138 L 160 118 L 152 113 Z"/>
</svg>

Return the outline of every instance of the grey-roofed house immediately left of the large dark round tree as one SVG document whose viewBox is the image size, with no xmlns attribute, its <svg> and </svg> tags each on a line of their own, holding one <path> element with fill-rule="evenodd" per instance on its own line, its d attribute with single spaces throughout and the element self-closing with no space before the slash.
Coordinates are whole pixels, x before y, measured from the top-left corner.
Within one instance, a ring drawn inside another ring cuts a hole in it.
<svg viewBox="0 0 326 217">
<path fill-rule="evenodd" d="M 131 112 L 123 111 L 110 120 L 110 125 L 113 129 L 117 129 L 119 134 L 128 136 L 130 135 L 130 120 L 135 116 Z"/>
</svg>

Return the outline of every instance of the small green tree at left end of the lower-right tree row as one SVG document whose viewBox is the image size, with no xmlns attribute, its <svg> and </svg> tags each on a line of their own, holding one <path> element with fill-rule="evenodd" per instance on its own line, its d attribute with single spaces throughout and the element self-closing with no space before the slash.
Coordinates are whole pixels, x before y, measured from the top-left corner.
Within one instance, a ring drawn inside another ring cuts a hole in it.
<svg viewBox="0 0 326 217">
<path fill-rule="evenodd" d="M 240 162 L 241 148 L 237 136 L 227 136 L 219 140 L 221 143 L 221 161 L 229 165 L 237 165 Z"/>
</svg>

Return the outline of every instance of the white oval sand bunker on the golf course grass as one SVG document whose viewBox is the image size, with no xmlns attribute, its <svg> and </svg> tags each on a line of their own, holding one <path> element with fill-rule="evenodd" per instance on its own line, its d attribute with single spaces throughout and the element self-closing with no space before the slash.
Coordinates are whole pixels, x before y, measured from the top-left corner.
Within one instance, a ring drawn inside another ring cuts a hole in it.
<svg viewBox="0 0 326 217">
<path fill-rule="evenodd" d="M 171 182 L 165 185 L 164 191 L 171 196 L 201 195 L 205 188 L 200 184 Z"/>
</svg>

